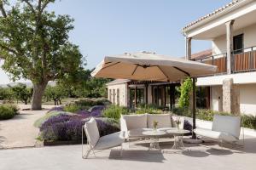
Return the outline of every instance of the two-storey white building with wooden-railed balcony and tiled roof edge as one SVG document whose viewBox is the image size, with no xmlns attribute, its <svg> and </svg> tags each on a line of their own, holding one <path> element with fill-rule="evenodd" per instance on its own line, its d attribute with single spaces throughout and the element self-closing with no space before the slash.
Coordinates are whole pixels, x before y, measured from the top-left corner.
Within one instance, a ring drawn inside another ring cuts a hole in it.
<svg viewBox="0 0 256 170">
<path fill-rule="evenodd" d="M 256 114 L 255 16 L 255 0 L 236 0 L 183 28 L 187 59 L 218 66 L 217 74 L 197 79 L 214 111 Z M 211 41 L 212 54 L 193 58 L 193 40 Z"/>
</svg>

